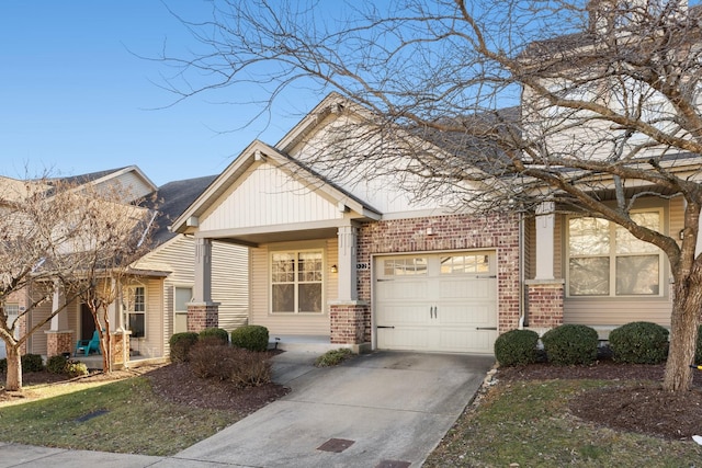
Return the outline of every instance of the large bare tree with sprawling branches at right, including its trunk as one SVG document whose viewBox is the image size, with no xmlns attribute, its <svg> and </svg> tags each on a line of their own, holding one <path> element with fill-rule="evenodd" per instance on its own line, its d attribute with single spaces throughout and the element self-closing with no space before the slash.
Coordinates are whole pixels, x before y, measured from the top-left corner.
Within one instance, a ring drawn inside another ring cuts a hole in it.
<svg viewBox="0 0 702 468">
<path fill-rule="evenodd" d="M 418 199 L 463 210 L 553 206 L 655 246 L 673 283 L 664 387 L 689 388 L 702 306 L 700 8 L 390 3 L 214 2 L 211 21 L 181 19 L 203 48 L 162 57 L 178 70 L 168 85 L 186 99 L 259 82 L 262 109 L 290 87 L 338 90 L 367 111 L 354 113 L 351 132 L 365 150 L 347 150 L 347 127 L 307 151 L 322 173 L 370 179 L 392 168 Z M 680 242 L 636 215 L 645 197 L 684 201 Z"/>
</svg>

